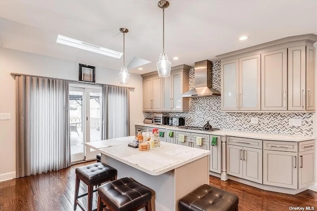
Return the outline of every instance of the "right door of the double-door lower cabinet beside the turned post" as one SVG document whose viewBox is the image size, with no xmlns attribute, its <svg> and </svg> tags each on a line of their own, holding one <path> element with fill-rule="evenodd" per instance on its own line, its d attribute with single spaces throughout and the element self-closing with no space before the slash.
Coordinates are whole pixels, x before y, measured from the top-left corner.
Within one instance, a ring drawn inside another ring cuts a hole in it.
<svg viewBox="0 0 317 211">
<path fill-rule="evenodd" d="M 262 184 L 262 149 L 243 147 L 243 178 Z"/>
</svg>

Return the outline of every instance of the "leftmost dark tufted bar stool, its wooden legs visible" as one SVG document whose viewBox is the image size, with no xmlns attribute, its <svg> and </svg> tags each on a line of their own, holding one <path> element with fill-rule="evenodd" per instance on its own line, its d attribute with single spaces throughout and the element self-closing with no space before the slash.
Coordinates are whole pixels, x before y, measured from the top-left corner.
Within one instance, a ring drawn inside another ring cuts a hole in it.
<svg viewBox="0 0 317 211">
<path fill-rule="evenodd" d="M 94 186 L 101 185 L 106 181 L 113 181 L 116 179 L 116 176 L 116 169 L 102 163 L 95 163 L 76 168 L 74 210 L 76 210 L 77 205 L 82 210 L 85 210 L 78 202 L 78 199 L 88 195 L 88 211 L 92 211 L 93 193 L 97 191 L 97 189 L 94 190 Z M 88 186 L 88 193 L 78 196 L 80 181 L 83 181 Z"/>
</svg>

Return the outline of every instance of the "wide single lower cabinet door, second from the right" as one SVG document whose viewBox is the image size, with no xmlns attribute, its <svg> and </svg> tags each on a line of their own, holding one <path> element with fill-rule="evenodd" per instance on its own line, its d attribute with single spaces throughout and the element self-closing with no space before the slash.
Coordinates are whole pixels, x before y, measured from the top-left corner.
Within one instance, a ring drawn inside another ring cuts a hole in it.
<svg viewBox="0 0 317 211">
<path fill-rule="evenodd" d="M 263 150 L 264 185 L 297 189 L 297 178 L 297 153 Z"/>
</svg>

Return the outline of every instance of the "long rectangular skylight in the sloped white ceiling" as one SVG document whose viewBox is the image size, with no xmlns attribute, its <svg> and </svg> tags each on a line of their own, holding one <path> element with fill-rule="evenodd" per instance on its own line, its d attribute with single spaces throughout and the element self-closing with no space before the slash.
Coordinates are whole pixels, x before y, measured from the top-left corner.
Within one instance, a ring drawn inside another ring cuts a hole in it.
<svg viewBox="0 0 317 211">
<path fill-rule="evenodd" d="M 122 56 L 122 53 L 119 51 L 111 50 L 111 49 L 101 47 L 101 46 L 98 46 L 95 44 L 91 44 L 88 42 L 79 41 L 79 40 L 69 38 L 69 37 L 66 37 L 63 35 L 58 35 L 56 42 L 61 43 L 61 44 L 65 44 L 68 46 L 72 46 L 72 47 L 77 47 L 77 48 L 80 48 L 83 50 L 88 50 L 91 52 L 100 53 L 100 54 L 103 54 L 106 56 L 111 56 L 111 57 L 114 57 L 117 59 L 121 58 L 121 56 Z"/>
</svg>

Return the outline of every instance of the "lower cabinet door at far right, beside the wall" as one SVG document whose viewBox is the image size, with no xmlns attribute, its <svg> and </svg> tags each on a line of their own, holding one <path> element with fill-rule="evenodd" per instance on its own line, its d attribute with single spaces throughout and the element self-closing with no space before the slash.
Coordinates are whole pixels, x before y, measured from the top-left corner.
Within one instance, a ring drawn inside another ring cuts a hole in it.
<svg viewBox="0 0 317 211">
<path fill-rule="evenodd" d="M 298 188 L 315 183 L 315 150 L 299 153 Z"/>
</svg>

